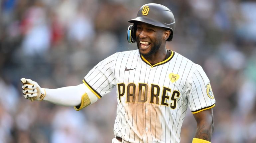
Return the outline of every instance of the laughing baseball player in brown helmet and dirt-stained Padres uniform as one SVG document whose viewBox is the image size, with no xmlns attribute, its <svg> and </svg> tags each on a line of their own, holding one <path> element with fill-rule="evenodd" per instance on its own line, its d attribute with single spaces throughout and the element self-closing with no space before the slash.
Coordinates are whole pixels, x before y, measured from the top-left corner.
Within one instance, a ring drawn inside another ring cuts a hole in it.
<svg viewBox="0 0 256 143">
<path fill-rule="evenodd" d="M 173 13 L 150 3 L 129 22 L 127 40 L 138 50 L 110 55 L 77 86 L 46 89 L 22 78 L 24 97 L 79 111 L 116 88 L 112 143 L 179 143 L 188 107 L 197 123 L 192 143 L 210 143 L 215 99 L 202 67 L 166 49 L 175 30 Z"/>
</svg>

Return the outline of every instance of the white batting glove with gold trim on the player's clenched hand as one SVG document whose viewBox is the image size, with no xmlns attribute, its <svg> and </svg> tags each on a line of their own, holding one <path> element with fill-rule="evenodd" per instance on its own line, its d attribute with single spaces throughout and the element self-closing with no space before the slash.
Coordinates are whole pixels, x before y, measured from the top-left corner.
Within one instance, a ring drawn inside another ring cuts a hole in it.
<svg viewBox="0 0 256 143">
<path fill-rule="evenodd" d="M 31 79 L 25 79 L 21 78 L 21 82 L 23 84 L 22 86 L 22 92 L 23 96 L 26 99 L 30 99 L 31 101 L 37 100 L 43 100 L 45 97 L 45 89 L 41 88 L 37 82 L 32 81 Z"/>
</svg>

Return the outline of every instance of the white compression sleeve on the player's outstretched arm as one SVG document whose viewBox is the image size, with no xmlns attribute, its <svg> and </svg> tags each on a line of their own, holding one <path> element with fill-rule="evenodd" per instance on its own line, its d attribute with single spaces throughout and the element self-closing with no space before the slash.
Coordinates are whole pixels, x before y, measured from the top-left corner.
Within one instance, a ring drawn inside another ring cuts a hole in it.
<svg viewBox="0 0 256 143">
<path fill-rule="evenodd" d="M 43 100 L 62 106 L 77 106 L 81 104 L 81 97 L 84 93 L 89 92 L 85 84 L 77 86 L 64 87 L 59 89 L 45 89 L 46 95 Z M 91 94 L 90 94 L 91 95 Z M 91 104 L 96 102 L 97 98 L 89 96 Z"/>
</svg>

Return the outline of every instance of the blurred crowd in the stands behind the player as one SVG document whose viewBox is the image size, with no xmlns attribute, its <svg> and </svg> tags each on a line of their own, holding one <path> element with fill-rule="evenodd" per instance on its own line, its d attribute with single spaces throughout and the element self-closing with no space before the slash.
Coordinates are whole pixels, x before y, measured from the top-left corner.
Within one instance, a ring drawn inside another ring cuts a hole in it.
<svg viewBox="0 0 256 143">
<path fill-rule="evenodd" d="M 43 88 L 82 83 L 99 61 L 135 50 L 127 20 L 146 3 L 172 10 L 167 48 L 200 64 L 216 99 L 212 143 L 256 142 L 256 1 L 2 0 L 0 1 L 0 143 L 110 143 L 116 116 L 111 91 L 77 112 L 23 97 L 22 77 Z M 188 110 L 181 143 L 196 123 Z"/>
</svg>

